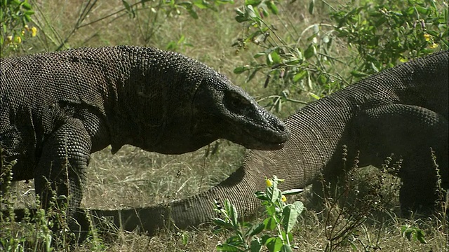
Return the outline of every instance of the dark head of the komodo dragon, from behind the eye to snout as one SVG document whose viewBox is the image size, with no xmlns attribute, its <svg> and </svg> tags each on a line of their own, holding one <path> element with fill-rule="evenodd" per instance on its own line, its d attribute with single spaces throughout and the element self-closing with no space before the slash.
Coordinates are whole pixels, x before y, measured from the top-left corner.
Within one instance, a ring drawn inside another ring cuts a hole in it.
<svg viewBox="0 0 449 252">
<path fill-rule="evenodd" d="M 277 150 L 290 137 L 281 120 L 219 73 L 203 79 L 192 107 L 192 134 L 199 139 L 222 138 L 246 148 Z"/>
</svg>

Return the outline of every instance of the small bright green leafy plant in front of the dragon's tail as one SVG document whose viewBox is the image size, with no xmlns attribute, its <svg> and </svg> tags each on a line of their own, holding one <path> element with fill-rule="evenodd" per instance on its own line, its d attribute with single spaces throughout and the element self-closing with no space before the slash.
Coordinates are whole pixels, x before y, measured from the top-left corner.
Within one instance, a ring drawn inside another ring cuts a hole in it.
<svg viewBox="0 0 449 252">
<path fill-rule="evenodd" d="M 213 218 L 217 225 L 216 233 L 223 230 L 231 230 L 233 235 L 225 243 L 217 245 L 218 251 L 262 251 L 262 246 L 268 251 L 292 251 L 293 228 L 297 225 L 297 217 L 300 216 L 304 206 L 302 202 L 286 203 L 285 195 L 293 195 L 302 192 L 302 189 L 293 189 L 281 192 L 277 188 L 283 180 L 267 179 L 265 192 L 256 192 L 255 195 L 262 200 L 267 218 L 262 223 L 239 222 L 236 208 L 225 200 L 223 207 L 215 202 L 215 211 L 222 218 Z M 266 232 L 264 232 L 266 231 Z M 262 237 L 261 235 L 264 232 Z"/>
</svg>

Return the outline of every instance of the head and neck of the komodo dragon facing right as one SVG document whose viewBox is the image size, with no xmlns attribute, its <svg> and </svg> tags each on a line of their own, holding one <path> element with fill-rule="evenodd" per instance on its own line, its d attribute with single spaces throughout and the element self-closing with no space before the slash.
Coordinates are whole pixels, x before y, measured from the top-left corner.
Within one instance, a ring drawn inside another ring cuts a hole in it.
<svg viewBox="0 0 449 252">
<path fill-rule="evenodd" d="M 290 137 L 281 120 L 205 64 L 155 48 L 121 50 L 132 55 L 123 59 L 123 64 L 129 65 L 133 74 L 118 107 L 125 109 L 120 115 L 128 116 L 134 127 L 128 138 L 112 144 L 113 152 L 122 144 L 132 144 L 146 151 L 180 154 L 217 139 L 251 149 L 276 150 Z M 127 63 L 129 59 L 135 62 Z M 128 120 L 116 122 L 129 129 Z"/>
</svg>

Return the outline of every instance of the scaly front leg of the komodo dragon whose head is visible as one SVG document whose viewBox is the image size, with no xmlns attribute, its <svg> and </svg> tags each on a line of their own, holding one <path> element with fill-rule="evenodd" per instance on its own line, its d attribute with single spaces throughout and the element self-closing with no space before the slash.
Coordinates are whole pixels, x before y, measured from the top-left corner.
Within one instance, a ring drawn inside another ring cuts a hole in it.
<svg viewBox="0 0 449 252">
<path fill-rule="evenodd" d="M 44 207 L 49 206 L 51 190 L 54 190 L 56 195 L 67 198 L 58 197 L 58 204 L 68 203 L 70 209 L 67 214 L 73 217 L 74 208 L 80 206 L 83 198 L 91 147 L 91 137 L 77 118 L 67 120 L 44 142 L 40 161 L 34 171 L 36 195 L 41 197 Z"/>
</svg>

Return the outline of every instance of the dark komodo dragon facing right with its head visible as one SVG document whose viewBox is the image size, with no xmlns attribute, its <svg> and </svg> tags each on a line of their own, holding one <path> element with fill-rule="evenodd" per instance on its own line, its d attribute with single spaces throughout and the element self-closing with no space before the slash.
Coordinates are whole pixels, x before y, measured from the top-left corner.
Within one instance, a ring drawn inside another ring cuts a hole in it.
<svg viewBox="0 0 449 252">
<path fill-rule="evenodd" d="M 44 205 L 51 181 L 79 207 L 90 155 L 109 144 L 177 154 L 220 138 L 275 150 L 289 137 L 240 87 L 175 52 L 78 48 L 4 58 L 0 70 L 4 160 L 17 160 L 13 181 L 35 179 Z"/>
</svg>

